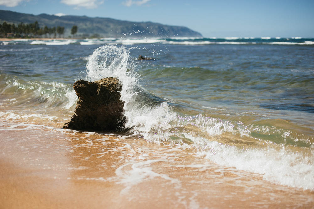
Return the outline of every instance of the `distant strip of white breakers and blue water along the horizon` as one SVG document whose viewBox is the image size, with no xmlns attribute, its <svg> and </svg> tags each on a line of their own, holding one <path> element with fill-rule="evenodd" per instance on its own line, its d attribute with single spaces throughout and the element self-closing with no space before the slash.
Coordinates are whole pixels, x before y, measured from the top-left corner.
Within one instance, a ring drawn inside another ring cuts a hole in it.
<svg viewBox="0 0 314 209">
<path fill-rule="evenodd" d="M 99 39 L 65 39 L 65 40 L 12 40 L 2 41 L 1 45 L 7 44 L 31 44 L 31 45 L 103 45 L 103 44 L 180 44 L 180 45 L 209 45 L 209 44 L 233 44 L 233 45 L 314 45 L 314 38 L 302 37 L 169 37 L 169 38 L 99 38 Z"/>
</svg>

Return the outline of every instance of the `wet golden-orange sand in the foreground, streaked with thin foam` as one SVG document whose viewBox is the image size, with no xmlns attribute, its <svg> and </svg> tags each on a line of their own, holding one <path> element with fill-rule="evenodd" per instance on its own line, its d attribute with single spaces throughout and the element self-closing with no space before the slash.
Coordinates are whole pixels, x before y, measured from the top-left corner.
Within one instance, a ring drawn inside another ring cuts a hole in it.
<svg viewBox="0 0 314 209">
<path fill-rule="evenodd" d="M 40 126 L 0 135 L 0 208 L 314 208 L 314 192 L 180 146 Z"/>
</svg>

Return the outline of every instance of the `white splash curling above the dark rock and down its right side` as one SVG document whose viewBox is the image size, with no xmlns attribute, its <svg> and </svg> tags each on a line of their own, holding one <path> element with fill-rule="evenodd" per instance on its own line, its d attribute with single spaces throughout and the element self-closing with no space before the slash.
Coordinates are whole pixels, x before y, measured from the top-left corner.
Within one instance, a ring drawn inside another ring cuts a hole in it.
<svg viewBox="0 0 314 209">
<path fill-rule="evenodd" d="M 139 75 L 134 70 L 136 65 L 128 62 L 130 49 L 132 48 L 114 45 L 97 48 L 86 65 L 86 80 L 118 78 L 122 83 L 121 100 L 124 102 L 124 115 L 127 118 L 126 127 L 133 128 L 134 133 L 141 134 L 147 139 L 154 139 L 155 142 L 160 139 L 166 140 L 166 136 L 150 133 L 153 129 L 157 132 L 168 129 L 168 122 L 175 118 L 176 114 L 170 112 L 166 102 L 157 107 L 141 107 L 136 101 L 135 96 L 143 90 L 138 85 Z"/>
</svg>

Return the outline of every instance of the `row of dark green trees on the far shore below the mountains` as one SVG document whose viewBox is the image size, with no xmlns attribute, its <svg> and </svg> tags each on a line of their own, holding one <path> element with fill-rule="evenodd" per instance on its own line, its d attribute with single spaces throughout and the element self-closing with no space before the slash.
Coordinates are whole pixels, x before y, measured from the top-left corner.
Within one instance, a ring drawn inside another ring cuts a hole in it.
<svg viewBox="0 0 314 209">
<path fill-rule="evenodd" d="M 78 28 L 76 25 L 73 25 L 71 34 L 74 37 L 74 34 L 77 32 Z M 51 38 L 53 35 L 53 38 L 57 37 L 57 34 L 59 35 L 59 38 L 64 37 L 64 27 L 57 26 L 48 28 L 46 25 L 44 27 L 39 27 L 39 24 L 37 21 L 30 24 L 23 24 L 22 22 L 18 25 L 15 24 L 9 24 L 7 22 L 3 22 L 0 24 L 0 36 L 7 38 L 7 37 L 14 37 L 14 38 L 42 38 L 43 36 L 45 38 Z"/>
</svg>

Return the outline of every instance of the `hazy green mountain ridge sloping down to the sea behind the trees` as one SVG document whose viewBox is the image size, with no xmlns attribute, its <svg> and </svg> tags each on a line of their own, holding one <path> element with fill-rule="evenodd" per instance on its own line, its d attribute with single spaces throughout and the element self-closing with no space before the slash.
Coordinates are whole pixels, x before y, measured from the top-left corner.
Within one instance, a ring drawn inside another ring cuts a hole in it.
<svg viewBox="0 0 314 209">
<path fill-rule="evenodd" d="M 56 16 L 49 14 L 25 14 L 0 10 L 0 22 L 19 24 L 38 21 L 40 27 L 65 27 L 64 37 L 70 36 L 73 25 L 78 26 L 77 36 L 99 37 L 201 37 L 202 35 L 184 26 L 163 25 L 153 22 L 130 22 L 111 18 L 87 16 Z"/>
</svg>

